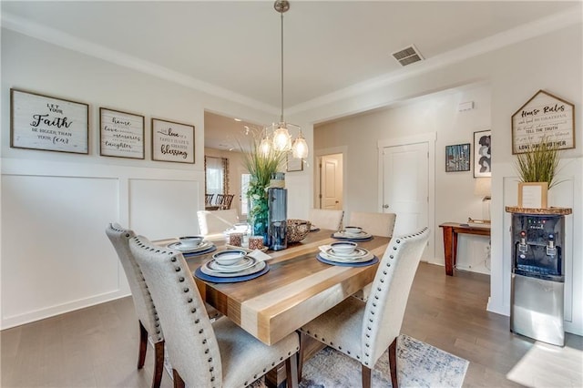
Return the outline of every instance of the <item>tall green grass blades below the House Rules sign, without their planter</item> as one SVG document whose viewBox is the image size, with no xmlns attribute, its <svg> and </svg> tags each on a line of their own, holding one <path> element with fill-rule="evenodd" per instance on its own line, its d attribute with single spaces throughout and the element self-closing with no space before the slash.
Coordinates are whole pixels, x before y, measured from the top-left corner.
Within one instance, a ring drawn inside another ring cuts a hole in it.
<svg viewBox="0 0 583 388">
<path fill-rule="evenodd" d="M 542 138 L 529 150 L 517 155 L 516 168 L 522 182 L 547 182 L 548 189 L 557 185 L 556 174 L 560 150 L 547 138 Z"/>
</svg>

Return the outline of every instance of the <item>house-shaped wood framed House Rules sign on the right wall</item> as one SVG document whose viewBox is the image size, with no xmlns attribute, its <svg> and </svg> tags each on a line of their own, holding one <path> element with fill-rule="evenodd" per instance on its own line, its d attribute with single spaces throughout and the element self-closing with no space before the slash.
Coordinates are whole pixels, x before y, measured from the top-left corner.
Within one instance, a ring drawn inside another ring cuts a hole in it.
<svg viewBox="0 0 583 388">
<path fill-rule="evenodd" d="M 543 139 L 558 149 L 575 148 L 575 106 L 538 90 L 512 115 L 512 154 L 525 153 Z"/>
</svg>

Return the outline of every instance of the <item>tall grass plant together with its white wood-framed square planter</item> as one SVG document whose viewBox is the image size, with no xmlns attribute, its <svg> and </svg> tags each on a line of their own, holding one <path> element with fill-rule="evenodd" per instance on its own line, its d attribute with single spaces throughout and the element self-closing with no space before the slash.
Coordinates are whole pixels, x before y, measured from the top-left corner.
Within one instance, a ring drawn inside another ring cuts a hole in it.
<svg viewBox="0 0 583 388">
<path fill-rule="evenodd" d="M 554 142 L 541 138 L 517 155 L 518 207 L 547 208 L 547 190 L 560 183 L 556 179 L 559 153 Z"/>
</svg>

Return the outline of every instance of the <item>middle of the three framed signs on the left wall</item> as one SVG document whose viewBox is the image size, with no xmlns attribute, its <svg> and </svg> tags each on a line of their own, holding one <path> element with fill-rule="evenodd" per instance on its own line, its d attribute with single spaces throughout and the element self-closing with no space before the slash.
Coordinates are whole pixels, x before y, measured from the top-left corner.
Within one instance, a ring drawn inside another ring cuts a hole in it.
<svg viewBox="0 0 583 388">
<path fill-rule="evenodd" d="M 144 117 L 99 107 L 99 153 L 104 157 L 144 158 Z"/>
</svg>

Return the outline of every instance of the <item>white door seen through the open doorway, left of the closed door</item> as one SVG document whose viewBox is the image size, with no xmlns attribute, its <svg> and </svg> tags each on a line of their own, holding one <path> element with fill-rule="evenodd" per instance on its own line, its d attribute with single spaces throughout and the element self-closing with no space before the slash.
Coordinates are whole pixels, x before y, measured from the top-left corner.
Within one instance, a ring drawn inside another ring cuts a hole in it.
<svg viewBox="0 0 583 388">
<path fill-rule="evenodd" d="M 343 209 L 342 154 L 322 156 L 320 179 L 321 209 Z"/>
</svg>

